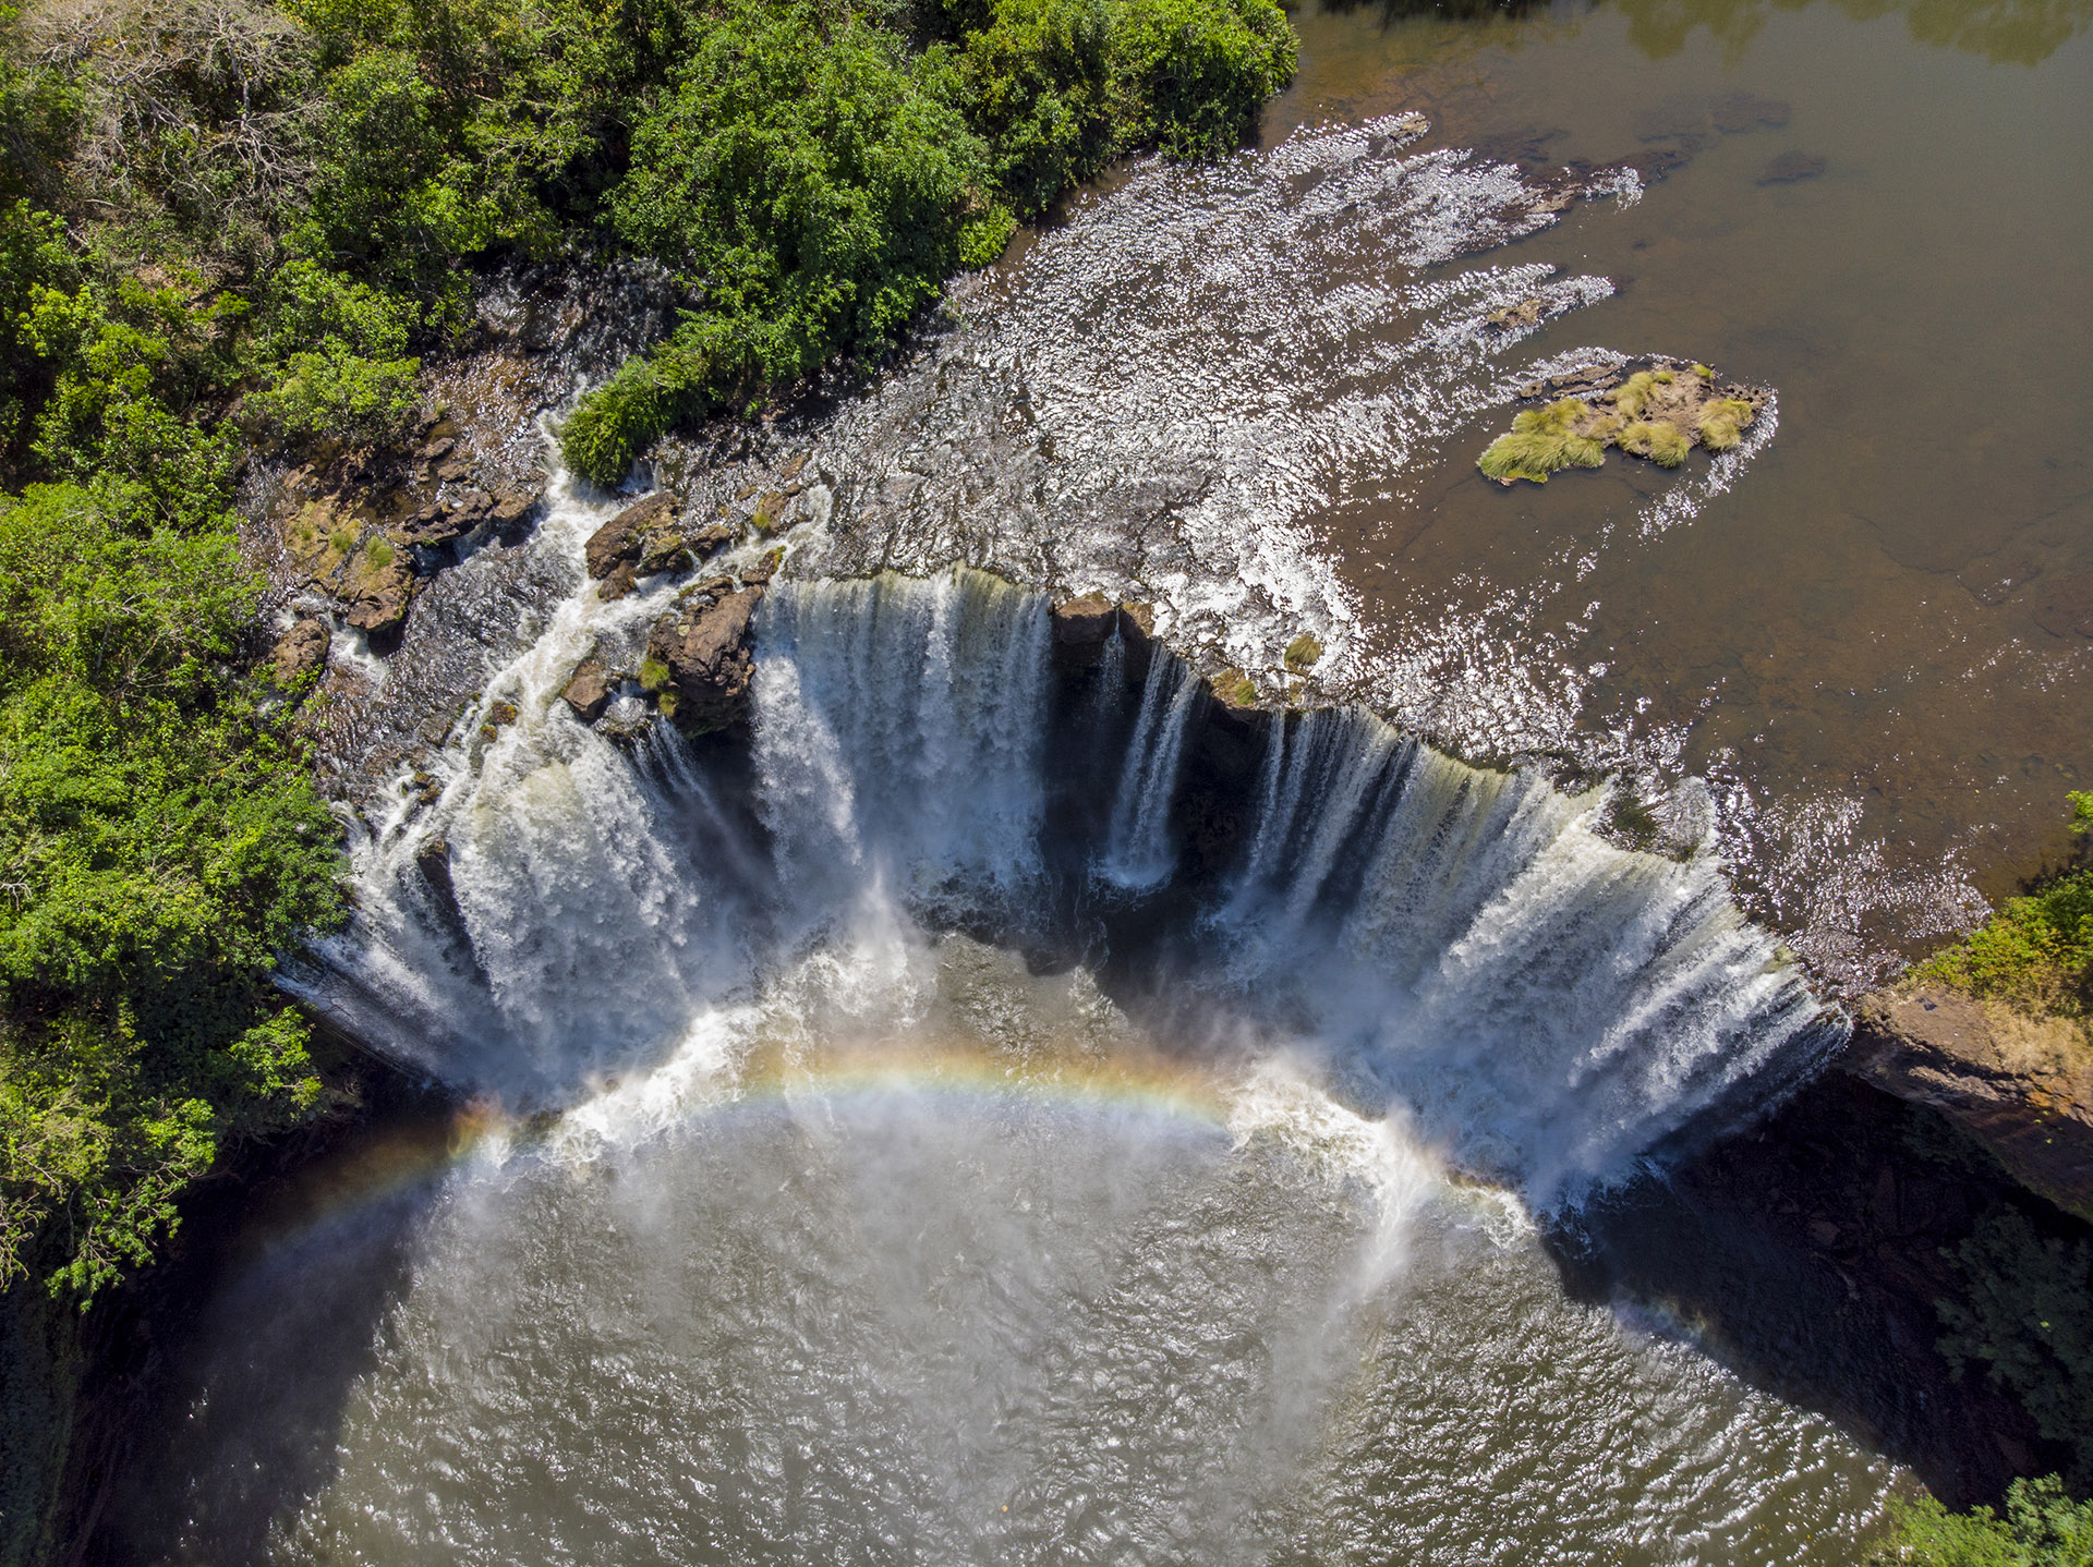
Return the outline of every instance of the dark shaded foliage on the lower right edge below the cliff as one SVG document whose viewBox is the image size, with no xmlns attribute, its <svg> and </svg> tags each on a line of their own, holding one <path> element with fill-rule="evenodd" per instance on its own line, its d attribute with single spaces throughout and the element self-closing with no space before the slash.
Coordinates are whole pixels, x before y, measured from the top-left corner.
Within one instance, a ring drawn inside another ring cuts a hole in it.
<svg viewBox="0 0 2093 1567">
<path fill-rule="evenodd" d="M 1957 1247 L 1955 1268 L 1965 1297 L 1938 1303 L 1940 1352 L 1957 1372 L 1986 1362 L 2093 1481 L 2093 1243 L 2043 1236 L 2003 1209 Z"/>
</svg>

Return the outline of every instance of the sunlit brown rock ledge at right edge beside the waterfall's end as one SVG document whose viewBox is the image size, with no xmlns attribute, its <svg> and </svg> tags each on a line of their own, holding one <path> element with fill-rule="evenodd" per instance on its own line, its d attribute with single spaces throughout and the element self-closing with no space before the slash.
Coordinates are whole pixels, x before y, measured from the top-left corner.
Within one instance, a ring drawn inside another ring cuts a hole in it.
<svg viewBox="0 0 2093 1567">
<path fill-rule="evenodd" d="M 2030 1019 L 1942 985 L 1861 1000 L 1848 1073 L 1930 1105 L 2020 1182 L 2093 1220 L 2093 1046 L 2064 1019 Z"/>
</svg>

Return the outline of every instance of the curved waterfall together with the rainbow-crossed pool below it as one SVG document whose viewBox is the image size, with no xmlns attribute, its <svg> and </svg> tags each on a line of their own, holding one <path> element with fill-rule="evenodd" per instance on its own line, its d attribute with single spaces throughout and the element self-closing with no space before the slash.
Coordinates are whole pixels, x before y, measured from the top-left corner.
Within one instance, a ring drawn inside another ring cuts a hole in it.
<svg viewBox="0 0 2093 1567">
<path fill-rule="evenodd" d="M 1189 665 L 973 571 L 774 582 L 747 745 L 622 747 L 611 504 L 295 977 L 475 1109 L 216 1303 L 155 1554 L 1844 1559 L 1888 1469 L 1528 1218 L 1831 1038 L 1712 851 L 1354 709 L 1233 720 L 1216 851 Z"/>
</svg>

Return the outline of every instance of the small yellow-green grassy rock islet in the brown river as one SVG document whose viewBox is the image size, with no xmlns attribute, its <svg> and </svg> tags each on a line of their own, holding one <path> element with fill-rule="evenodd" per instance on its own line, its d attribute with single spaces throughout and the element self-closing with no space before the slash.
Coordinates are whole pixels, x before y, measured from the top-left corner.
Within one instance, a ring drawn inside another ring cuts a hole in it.
<svg viewBox="0 0 2093 1567">
<path fill-rule="evenodd" d="M 1563 469 L 1601 467 L 1605 448 L 1614 446 L 1676 469 L 1695 446 L 1733 450 L 1764 398 L 1750 387 L 1718 393 L 1714 370 L 1706 364 L 1656 364 L 1628 377 L 1580 372 L 1574 379 L 1578 395 L 1515 414 L 1511 431 L 1490 441 L 1476 467 L 1505 485 L 1520 479 L 1547 483 L 1551 473 Z"/>
</svg>

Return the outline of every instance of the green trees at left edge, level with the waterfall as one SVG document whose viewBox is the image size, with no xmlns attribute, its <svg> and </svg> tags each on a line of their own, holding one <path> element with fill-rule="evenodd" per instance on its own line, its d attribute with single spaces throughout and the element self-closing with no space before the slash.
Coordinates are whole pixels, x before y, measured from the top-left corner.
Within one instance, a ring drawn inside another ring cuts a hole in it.
<svg viewBox="0 0 2093 1567">
<path fill-rule="evenodd" d="M 268 975 L 337 908 L 333 824 L 226 676 L 257 580 L 123 494 L 0 502 L 0 1278 L 59 1234 L 82 1295 L 224 1136 L 310 1111 Z"/>
</svg>

